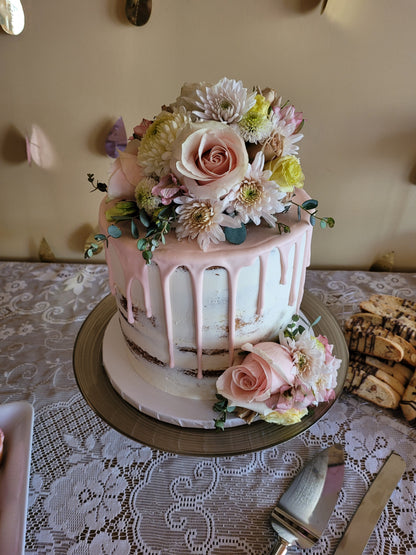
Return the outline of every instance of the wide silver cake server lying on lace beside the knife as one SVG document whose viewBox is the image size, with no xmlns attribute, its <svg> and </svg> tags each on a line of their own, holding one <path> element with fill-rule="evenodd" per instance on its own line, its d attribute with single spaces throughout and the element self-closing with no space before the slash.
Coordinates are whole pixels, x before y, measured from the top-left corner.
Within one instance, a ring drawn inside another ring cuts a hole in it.
<svg viewBox="0 0 416 555">
<path fill-rule="evenodd" d="M 278 541 L 270 555 L 284 555 L 297 543 L 312 547 L 321 537 L 344 482 L 344 450 L 335 444 L 318 453 L 296 476 L 273 509 Z"/>
</svg>

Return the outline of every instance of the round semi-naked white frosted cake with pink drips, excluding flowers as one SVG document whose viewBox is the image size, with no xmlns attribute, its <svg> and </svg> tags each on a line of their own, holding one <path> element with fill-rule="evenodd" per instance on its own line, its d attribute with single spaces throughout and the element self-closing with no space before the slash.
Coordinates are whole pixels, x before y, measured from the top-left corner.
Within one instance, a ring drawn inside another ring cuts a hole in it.
<svg viewBox="0 0 416 555">
<path fill-rule="evenodd" d="M 298 190 L 296 202 L 306 198 Z M 103 233 L 108 206 L 103 201 L 100 208 Z M 186 387 L 190 397 L 212 396 L 212 384 L 187 374 L 202 378 L 224 370 L 244 343 L 273 339 L 289 323 L 303 296 L 312 227 L 307 215 L 298 220 L 293 206 L 281 221 L 290 233 L 250 226 L 241 245 L 220 243 L 206 252 L 171 233 L 150 265 L 128 230 L 109 238 L 106 258 L 121 328 L 146 381 L 174 395 Z"/>
</svg>

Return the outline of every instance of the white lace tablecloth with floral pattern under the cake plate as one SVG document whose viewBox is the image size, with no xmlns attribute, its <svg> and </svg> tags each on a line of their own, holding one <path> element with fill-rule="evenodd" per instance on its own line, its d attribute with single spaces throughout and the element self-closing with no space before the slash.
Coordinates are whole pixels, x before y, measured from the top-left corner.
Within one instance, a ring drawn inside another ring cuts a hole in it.
<svg viewBox="0 0 416 555">
<path fill-rule="evenodd" d="M 342 324 L 371 293 L 414 300 L 416 275 L 309 271 L 307 289 Z M 169 454 L 109 428 L 72 368 L 79 328 L 108 292 L 105 265 L 0 262 L 0 402 L 35 410 L 26 553 L 267 554 L 278 498 L 305 461 L 339 442 L 344 487 L 324 536 L 304 553 L 334 552 L 395 451 L 407 469 L 364 553 L 416 554 L 415 430 L 346 393 L 302 435 L 241 456 Z"/>
</svg>

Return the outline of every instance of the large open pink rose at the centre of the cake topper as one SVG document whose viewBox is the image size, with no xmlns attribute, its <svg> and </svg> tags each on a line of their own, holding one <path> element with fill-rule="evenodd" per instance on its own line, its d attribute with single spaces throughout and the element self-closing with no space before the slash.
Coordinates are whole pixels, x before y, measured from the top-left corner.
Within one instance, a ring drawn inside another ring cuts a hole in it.
<svg viewBox="0 0 416 555">
<path fill-rule="evenodd" d="M 242 181 L 247 165 L 243 139 L 220 122 L 186 125 L 172 147 L 172 171 L 197 199 L 222 199 Z"/>
</svg>

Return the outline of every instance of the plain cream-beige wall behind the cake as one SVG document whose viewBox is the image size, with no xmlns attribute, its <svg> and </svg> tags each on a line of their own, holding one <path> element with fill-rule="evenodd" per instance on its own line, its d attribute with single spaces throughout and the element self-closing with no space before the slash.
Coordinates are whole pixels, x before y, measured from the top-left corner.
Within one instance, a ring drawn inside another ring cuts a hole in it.
<svg viewBox="0 0 416 555">
<path fill-rule="evenodd" d="M 270 86 L 306 116 L 301 161 L 320 213 L 313 267 L 368 268 L 395 251 L 416 270 L 414 0 L 153 0 L 144 27 L 124 0 L 22 0 L 21 35 L 0 30 L 0 258 L 82 260 L 106 179 L 104 139 L 174 100 L 184 81 Z M 25 161 L 33 124 L 55 153 Z"/>
</svg>

